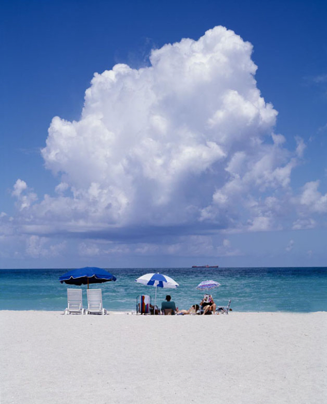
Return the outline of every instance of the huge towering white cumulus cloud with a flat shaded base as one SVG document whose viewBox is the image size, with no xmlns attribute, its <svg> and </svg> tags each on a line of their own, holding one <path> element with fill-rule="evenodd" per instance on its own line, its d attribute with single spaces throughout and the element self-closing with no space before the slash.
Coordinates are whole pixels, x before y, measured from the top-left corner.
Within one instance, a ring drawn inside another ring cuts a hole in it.
<svg viewBox="0 0 327 404">
<path fill-rule="evenodd" d="M 203 222 L 210 211 L 225 226 L 223 201 L 250 186 L 287 185 L 293 164 L 283 136 L 271 137 L 277 113 L 256 87 L 251 53 L 215 27 L 152 51 L 149 67 L 96 73 L 81 119 L 55 117 L 49 128 L 42 156 L 62 183 L 43 215 L 167 226 Z"/>
</svg>

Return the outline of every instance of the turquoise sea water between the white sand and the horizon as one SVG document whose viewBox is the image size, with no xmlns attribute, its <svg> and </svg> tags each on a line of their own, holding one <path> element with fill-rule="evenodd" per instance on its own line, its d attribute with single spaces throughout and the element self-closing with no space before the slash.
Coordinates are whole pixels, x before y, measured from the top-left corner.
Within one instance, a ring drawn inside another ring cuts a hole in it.
<svg viewBox="0 0 327 404">
<path fill-rule="evenodd" d="M 61 284 L 58 277 L 68 269 L 0 270 L 0 310 L 64 310 L 67 287 L 83 289 L 86 302 L 87 286 Z M 179 283 L 177 289 L 158 288 L 157 301 L 171 294 L 179 309 L 189 308 L 201 300 L 203 293 L 196 286 L 213 279 L 221 286 L 212 290 L 217 305 L 227 305 L 239 312 L 315 312 L 327 311 L 327 268 L 148 268 L 114 269 L 116 282 L 101 287 L 103 304 L 108 310 L 135 310 L 136 296 L 150 294 L 155 288 L 141 285 L 135 279 L 149 272 L 160 272 Z"/>
</svg>

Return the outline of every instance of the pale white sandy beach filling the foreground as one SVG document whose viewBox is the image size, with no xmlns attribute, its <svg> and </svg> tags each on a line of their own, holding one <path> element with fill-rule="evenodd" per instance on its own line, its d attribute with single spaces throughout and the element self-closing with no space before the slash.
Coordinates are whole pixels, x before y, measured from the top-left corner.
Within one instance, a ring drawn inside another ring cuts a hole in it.
<svg viewBox="0 0 327 404">
<path fill-rule="evenodd" d="M 0 311 L 1 404 L 325 404 L 327 313 Z"/>
</svg>

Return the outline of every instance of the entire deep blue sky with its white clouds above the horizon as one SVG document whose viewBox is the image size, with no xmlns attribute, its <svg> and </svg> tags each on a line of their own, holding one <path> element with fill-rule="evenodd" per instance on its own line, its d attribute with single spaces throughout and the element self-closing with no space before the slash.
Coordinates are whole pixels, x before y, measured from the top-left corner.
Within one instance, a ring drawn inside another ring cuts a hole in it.
<svg viewBox="0 0 327 404">
<path fill-rule="evenodd" d="M 0 268 L 326 265 L 326 2 L 0 18 Z"/>
</svg>

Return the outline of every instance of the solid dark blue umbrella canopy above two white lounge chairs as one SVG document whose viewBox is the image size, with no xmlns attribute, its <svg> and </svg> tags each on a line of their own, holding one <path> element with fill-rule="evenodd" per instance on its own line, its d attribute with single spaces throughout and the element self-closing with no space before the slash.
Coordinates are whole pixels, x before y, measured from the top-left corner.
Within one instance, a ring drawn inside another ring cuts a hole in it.
<svg viewBox="0 0 327 404">
<path fill-rule="evenodd" d="M 97 267 L 85 267 L 79 269 L 73 269 L 66 274 L 59 277 L 61 283 L 67 283 L 68 285 L 86 285 L 89 283 L 102 283 L 115 281 L 117 278 L 110 272 L 105 271 L 102 268 Z"/>
</svg>

